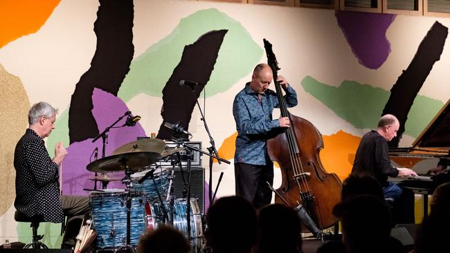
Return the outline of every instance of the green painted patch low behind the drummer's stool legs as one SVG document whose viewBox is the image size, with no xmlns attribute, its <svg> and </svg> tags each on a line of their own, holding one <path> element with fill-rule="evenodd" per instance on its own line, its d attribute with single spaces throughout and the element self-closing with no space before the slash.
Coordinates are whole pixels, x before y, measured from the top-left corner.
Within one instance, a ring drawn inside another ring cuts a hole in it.
<svg viewBox="0 0 450 253">
<path fill-rule="evenodd" d="M 61 223 L 39 223 L 37 234 L 44 235 L 41 242 L 51 249 L 60 249 L 62 243 Z M 33 229 L 30 223 L 17 223 L 17 235 L 19 242 L 31 243 L 33 241 Z"/>
</svg>

